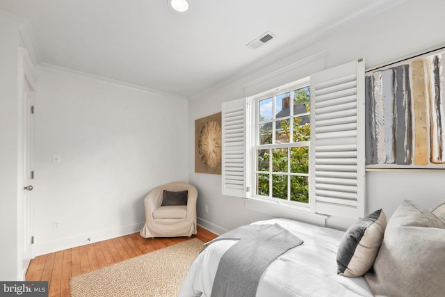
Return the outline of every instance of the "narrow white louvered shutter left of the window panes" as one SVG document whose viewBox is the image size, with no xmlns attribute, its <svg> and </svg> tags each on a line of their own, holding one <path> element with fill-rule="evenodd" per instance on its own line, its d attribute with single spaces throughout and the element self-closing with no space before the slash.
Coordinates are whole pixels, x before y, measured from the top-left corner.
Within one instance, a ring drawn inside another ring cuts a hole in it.
<svg viewBox="0 0 445 297">
<path fill-rule="evenodd" d="M 246 197 L 247 99 L 223 103 L 221 113 L 223 195 Z"/>
</svg>

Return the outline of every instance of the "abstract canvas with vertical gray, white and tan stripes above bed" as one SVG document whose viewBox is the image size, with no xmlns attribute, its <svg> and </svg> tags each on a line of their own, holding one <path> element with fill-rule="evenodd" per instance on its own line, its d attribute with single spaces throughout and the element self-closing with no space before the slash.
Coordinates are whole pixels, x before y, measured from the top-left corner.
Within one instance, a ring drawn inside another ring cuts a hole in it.
<svg viewBox="0 0 445 297">
<path fill-rule="evenodd" d="M 445 168 L 444 54 L 366 72 L 366 168 Z"/>
</svg>

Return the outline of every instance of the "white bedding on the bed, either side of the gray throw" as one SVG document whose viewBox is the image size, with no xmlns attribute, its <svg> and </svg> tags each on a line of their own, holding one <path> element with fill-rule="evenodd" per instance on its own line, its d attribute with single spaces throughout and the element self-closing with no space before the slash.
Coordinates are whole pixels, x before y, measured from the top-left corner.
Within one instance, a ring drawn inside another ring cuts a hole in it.
<svg viewBox="0 0 445 297">
<path fill-rule="evenodd" d="M 273 223 L 279 223 L 305 242 L 270 264 L 259 281 L 257 297 L 373 296 L 364 278 L 337 275 L 337 248 L 344 232 L 285 218 L 254 224 Z M 179 297 L 211 297 L 220 258 L 235 243 L 216 241 L 201 252 L 188 271 Z"/>
</svg>

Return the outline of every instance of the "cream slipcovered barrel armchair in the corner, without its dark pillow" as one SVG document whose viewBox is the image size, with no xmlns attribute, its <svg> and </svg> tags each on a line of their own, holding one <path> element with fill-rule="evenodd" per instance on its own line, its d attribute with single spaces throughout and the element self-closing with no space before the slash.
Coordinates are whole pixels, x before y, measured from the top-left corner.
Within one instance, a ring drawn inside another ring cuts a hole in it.
<svg viewBox="0 0 445 297">
<path fill-rule="evenodd" d="M 162 206 L 163 192 L 187 192 L 187 205 Z M 163 184 L 150 191 L 144 199 L 145 225 L 140 236 L 175 237 L 196 234 L 197 190 L 186 182 Z"/>
</svg>

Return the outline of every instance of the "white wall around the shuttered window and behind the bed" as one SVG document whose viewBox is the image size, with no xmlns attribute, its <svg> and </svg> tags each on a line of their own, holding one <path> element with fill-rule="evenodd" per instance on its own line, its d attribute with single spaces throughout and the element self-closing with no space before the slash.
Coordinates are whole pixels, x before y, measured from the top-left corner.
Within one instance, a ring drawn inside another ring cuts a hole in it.
<svg viewBox="0 0 445 297">
<path fill-rule="evenodd" d="M 321 51 L 326 52 L 325 68 L 365 58 L 366 67 L 373 67 L 405 56 L 416 54 L 432 47 L 445 45 L 443 18 L 445 1 L 407 0 L 380 15 L 371 16 L 350 29 L 342 29 L 325 40 L 300 49 L 241 79 L 209 93 L 197 95 L 188 104 L 189 129 L 189 181 L 197 186 L 198 223 L 214 232 L 238 227 L 253 220 L 269 216 L 245 209 L 245 200 L 221 195 L 221 176 L 194 172 L 194 120 L 221 111 L 221 104 L 245 96 L 249 82 L 268 72 L 280 70 L 284 65 L 296 63 Z M 259 48 L 258 50 L 261 50 Z M 297 73 L 297 72 L 296 72 Z M 302 77 L 289 72 L 282 75 L 280 84 Z M 277 86 L 280 86 L 278 84 Z M 270 88 L 270 87 L 268 87 Z M 366 211 L 382 208 L 390 216 L 403 199 L 432 207 L 445 193 L 445 172 L 367 172 Z M 209 212 L 204 211 L 204 205 Z M 328 218 L 327 225 L 344 229 L 350 221 Z"/>
</svg>

